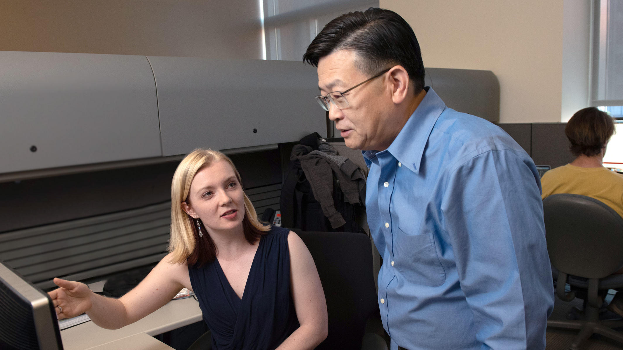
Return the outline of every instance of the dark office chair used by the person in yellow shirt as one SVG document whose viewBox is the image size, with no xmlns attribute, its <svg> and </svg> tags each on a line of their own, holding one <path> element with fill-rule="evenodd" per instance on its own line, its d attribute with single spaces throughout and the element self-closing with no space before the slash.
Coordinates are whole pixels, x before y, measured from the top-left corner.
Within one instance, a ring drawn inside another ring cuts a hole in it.
<svg viewBox="0 0 623 350">
<path fill-rule="evenodd" d="M 623 343 L 621 319 L 599 320 L 607 290 L 623 287 L 623 219 L 606 204 L 578 194 L 554 194 L 543 201 L 549 259 L 557 278 L 556 294 L 564 301 L 586 293 L 579 321 L 548 320 L 548 326 L 579 329 L 569 349 L 597 333 Z M 571 285 L 566 293 L 565 284 Z"/>
</svg>

